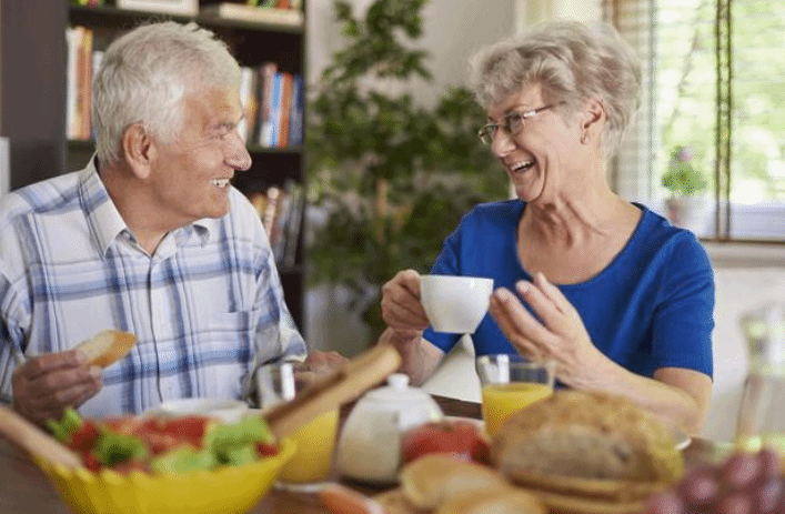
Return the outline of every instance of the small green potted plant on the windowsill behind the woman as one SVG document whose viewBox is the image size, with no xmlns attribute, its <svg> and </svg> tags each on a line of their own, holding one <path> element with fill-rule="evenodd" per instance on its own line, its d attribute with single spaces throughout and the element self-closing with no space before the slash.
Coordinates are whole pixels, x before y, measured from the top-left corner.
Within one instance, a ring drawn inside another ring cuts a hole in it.
<svg viewBox="0 0 785 514">
<path fill-rule="evenodd" d="M 671 152 L 662 184 L 671 192 L 665 200 L 671 222 L 694 232 L 702 232 L 706 221 L 704 193 L 708 182 L 695 162 L 695 152 L 690 147 L 675 147 Z"/>
</svg>

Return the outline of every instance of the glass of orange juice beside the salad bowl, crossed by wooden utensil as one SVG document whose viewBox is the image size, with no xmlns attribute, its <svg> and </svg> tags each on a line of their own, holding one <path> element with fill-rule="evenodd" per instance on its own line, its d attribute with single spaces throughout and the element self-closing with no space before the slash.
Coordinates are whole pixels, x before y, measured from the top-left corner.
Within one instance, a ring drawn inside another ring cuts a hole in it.
<svg viewBox="0 0 785 514">
<path fill-rule="evenodd" d="M 262 412 L 292 400 L 313 374 L 299 372 L 298 363 L 265 364 L 255 372 L 256 397 Z M 283 466 L 275 486 L 289 491 L 314 492 L 330 478 L 335 451 L 339 411 L 326 411 L 289 437 L 296 443 L 294 456 Z"/>
</svg>

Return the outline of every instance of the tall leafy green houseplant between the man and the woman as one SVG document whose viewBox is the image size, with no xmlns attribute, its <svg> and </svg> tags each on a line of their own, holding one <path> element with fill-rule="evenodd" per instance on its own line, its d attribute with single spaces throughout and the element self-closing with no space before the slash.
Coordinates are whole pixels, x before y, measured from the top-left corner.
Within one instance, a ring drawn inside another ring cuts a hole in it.
<svg viewBox="0 0 785 514">
<path fill-rule="evenodd" d="M 323 220 L 310 223 L 309 282 L 345 286 L 373 340 L 381 285 L 403 269 L 426 273 L 463 213 L 507 195 L 471 92 L 447 90 L 432 107 L 412 94 L 431 80 L 414 44 L 425 3 L 375 0 L 355 18 L 335 1 L 346 46 L 311 88 L 309 204 Z"/>
</svg>

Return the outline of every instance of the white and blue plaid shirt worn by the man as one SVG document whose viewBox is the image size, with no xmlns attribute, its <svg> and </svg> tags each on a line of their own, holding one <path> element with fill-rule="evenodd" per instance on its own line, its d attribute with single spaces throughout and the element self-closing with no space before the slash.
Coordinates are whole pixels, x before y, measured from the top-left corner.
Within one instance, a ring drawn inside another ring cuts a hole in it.
<svg viewBox="0 0 785 514">
<path fill-rule="evenodd" d="M 80 412 L 140 413 L 189 396 L 240 397 L 255 364 L 303 355 L 259 215 L 232 189 L 228 215 L 170 232 L 150 256 L 93 161 L 0 198 L 0 399 L 24 359 L 104 329 L 137 334 Z"/>
</svg>

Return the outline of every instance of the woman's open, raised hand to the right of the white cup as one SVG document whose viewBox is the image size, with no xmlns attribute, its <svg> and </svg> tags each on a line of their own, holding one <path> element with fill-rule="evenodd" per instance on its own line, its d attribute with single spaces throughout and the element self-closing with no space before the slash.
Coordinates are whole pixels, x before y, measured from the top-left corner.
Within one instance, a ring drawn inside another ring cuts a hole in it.
<svg viewBox="0 0 785 514">
<path fill-rule="evenodd" d="M 607 359 L 594 346 L 581 315 L 558 288 L 537 273 L 533 282 L 517 282 L 516 289 L 542 321 L 511 291 L 494 291 L 491 314 L 510 343 L 532 361 L 553 360 L 556 377 L 571 387 L 586 389 L 602 380 L 600 366 Z"/>
</svg>

